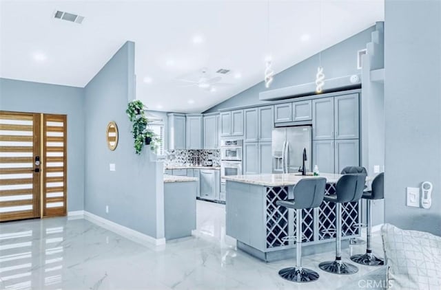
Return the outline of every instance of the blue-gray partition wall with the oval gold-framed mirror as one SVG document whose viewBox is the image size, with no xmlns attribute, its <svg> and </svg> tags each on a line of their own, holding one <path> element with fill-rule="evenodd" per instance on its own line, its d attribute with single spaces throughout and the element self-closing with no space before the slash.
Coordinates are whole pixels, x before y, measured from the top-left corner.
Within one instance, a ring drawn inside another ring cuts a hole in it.
<svg viewBox="0 0 441 290">
<path fill-rule="evenodd" d="M 127 100 L 135 97 L 134 84 L 134 43 L 127 42 L 85 87 L 85 210 L 163 238 L 161 164 L 150 161 L 147 147 L 141 156 L 134 153 L 131 122 L 125 113 Z M 105 140 L 110 121 L 119 129 L 114 151 Z M 116 171 L 109 170 L 111 163 Z"/>
</svg>

